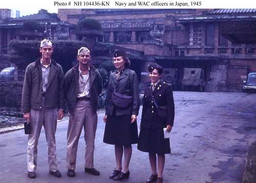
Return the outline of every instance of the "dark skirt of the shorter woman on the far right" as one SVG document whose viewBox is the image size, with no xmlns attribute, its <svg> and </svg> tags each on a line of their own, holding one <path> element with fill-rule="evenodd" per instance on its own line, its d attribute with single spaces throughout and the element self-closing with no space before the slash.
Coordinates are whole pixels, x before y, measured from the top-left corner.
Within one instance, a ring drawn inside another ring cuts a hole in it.
<svg viewBox="0 0 256 183">
<path fill-rule="evenodd" d="M 169 154 L 169 139 L 164 139 L 163 129 L 148 129 L 141 127 L 138 149 L 155 154 Z"/>
</svg>

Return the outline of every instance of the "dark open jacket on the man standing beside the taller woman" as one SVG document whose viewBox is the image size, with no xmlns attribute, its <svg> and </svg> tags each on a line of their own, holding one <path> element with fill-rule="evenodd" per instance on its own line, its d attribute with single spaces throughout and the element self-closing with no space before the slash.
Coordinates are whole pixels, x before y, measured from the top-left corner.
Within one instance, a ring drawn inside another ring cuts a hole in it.
<svg viewBox="0 0 256 183">
<path fill-rule="evenodd" d="M 102 79 L 93 65 L 89 65 L 90 98 L 94 112 L 97 112 L 98 96 L 102 91 Z M 69 111 L 73 112 L 76 106 L 76 96 L 79 77 L 79 63 L 69 70 L 63 79 L 65 98 L 68 101 Z"/>
</svg>

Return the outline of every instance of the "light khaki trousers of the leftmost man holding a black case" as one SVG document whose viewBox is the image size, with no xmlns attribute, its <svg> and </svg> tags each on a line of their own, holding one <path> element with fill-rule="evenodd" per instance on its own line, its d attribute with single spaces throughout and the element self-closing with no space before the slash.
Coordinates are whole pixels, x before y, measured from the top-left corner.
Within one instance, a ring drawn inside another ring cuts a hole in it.
<svg viewBox="0 0 256 183">
<path fill-rule="evenodd" d="M 37 145 L 41 128 L 44 126 L 48 144 L 49 170 L 57 170 L 55 132 L 57 128 L 57 108 L 45 108 L 45 98 L 42 97 L 42 108 L 30 110 L 31 133 L 28 136 L 28 171 L 35 172 L 37 167 Z"/>
</svg>

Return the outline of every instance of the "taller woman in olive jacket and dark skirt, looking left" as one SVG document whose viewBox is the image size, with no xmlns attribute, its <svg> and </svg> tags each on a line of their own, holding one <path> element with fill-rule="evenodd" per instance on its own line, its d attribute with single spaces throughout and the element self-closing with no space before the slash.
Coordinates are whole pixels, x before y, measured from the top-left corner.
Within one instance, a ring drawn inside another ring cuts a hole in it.
<svg viewBox="0 0 256 183">
<path fill-rule="evenodd" d="M 106 91 L 106 112 L 103 118 L 106 125 L 103 142 L 115 145 L 116 169 L 109 178 L 122 180 L 130 176 L 132 144 L 138 143 L 136 120 L 140 107 L 139 84 L 136 73 L 128 68 L 130 60 L 124 51 L 115 51 L 113 62 L 117 71 L 110 76 Z M 117 106 L 113 102 L 113 93 L 132 98 L 130 105 L 124 108 Z M 122 165 L 123 152 L 124 162 Z"/>
</svg>

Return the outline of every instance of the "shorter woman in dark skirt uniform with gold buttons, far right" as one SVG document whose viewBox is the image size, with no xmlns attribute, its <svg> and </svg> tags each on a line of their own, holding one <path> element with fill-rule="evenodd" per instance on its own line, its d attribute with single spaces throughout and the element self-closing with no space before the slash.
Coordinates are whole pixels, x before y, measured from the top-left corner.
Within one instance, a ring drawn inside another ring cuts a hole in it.
<svg viewBox="0 0 256 183">
<path fill-rule="evenodd" d="M 169 139 L 164 139 L 163 128 L 170 132 L 174 124 L 174 98 L 172 86 L 160 81 L 163 67 L 157 64 L 148 65 L 151 86 L 145 89 L 138 149 L 148 152 L 152 175 L 147 183 L 163 182 L 165 156 L 170 153 Z M 155 98 L 155 102 L 154 99 Z M 166 118 L 160 118 L 157 106 L 167 106 Z"/>
</svg>

